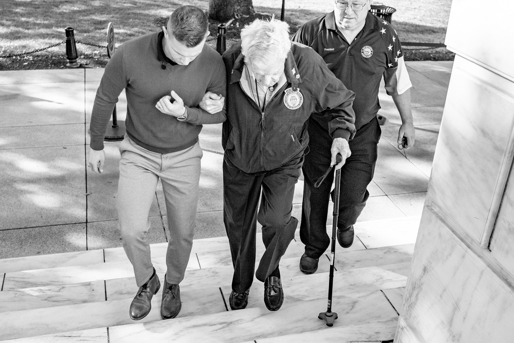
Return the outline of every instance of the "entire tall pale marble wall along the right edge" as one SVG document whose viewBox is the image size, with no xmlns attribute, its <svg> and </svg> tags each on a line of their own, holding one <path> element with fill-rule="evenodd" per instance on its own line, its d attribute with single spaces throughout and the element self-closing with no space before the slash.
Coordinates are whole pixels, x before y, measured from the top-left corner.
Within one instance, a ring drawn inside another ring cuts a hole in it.
<svg viewBox="0 0 514 343">
<path fill-rule="evenodd" d="M 453 0 L 455 52 L 395 342 L 514 341 L 512 0 Z"/>
</svg>

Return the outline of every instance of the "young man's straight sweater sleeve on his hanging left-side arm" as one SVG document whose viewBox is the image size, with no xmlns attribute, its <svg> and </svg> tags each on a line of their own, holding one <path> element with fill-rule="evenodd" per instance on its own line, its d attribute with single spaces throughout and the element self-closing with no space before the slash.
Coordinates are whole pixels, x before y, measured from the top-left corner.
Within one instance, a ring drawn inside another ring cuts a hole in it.
<svg viewBox="0 0 514 343">
<path fill-rule="evenodd" d="M 111 119 L 118 97 L 127 85 L 123 68 L 123 45 L 107 63 L 91 112 L 89 146 L 93 150 L 103 150 L 103 140 L 107 131 L 107 123 Z"/>
</svg>

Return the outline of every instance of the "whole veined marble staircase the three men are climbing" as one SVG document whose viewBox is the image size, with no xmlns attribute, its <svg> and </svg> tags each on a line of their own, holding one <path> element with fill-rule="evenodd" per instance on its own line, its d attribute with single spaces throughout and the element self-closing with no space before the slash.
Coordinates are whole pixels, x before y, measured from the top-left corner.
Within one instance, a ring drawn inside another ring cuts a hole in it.
<svg viewBox="0 0 514 343">
<path fill-rule="evenodd" d="M 298 268 L 303 244 L 291 242 L 281 261 L 285 300 L 277 312 L 263 303 L 263 284 L 250 290 L 248 307 L 231 311 L 232 264 L 226 237 L 195 240 L 180 284 L 182 310 L 162 320 L 159 292 L 141 321 L 128 317 L 137 290 L 122 248 L 0 260 L 0 340 L 27 342 L 315 342 L 390 341 L 401 312 L 419 216 L 360 222 L 351 248 L 337 246 L 332 309 L 326 310 L 329 259 L 318 272 Z M 328 229 L 331 229 L 328 227 Z M 159 277 L 166 272 L 166 244 L 152 245 Z M 257 256 L 264 246 L 258 237 Z"/>
</svg>

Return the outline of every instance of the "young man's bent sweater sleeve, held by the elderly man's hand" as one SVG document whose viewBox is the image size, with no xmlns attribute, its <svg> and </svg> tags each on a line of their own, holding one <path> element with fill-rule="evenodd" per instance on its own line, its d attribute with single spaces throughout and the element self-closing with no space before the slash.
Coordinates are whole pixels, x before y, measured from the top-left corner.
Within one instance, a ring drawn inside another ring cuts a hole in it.
<svg viewBox="0 0 514 343">
<path fill-rule="evenodd" d="M 206 93 L 212 92 L 225 97 L 227 93 L 225 64 L 219 55 L 216 56 L 213 62 L 215 63 L 207 66 L 208 69 L 213 70 L 213 73 L 211 73 L 211 79 L 209 86 L 206 89 Z M 195 125 L 217 124 L 222 123 L 227 119 L 226 104 L 224 104 L 222 111 L 214 114 L 210 114 L 209 112 L 200 109 L 199 106 L 187 107 L 186 111 L 188 112 L 188 118 L 186 121 Z"/>
</svg>

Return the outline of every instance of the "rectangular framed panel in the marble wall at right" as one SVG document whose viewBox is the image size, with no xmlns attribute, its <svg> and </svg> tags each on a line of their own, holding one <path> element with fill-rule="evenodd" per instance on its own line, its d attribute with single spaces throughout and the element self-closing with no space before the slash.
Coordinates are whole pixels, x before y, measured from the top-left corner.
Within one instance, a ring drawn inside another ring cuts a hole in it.
<svg viewBox="0 0 514 343">
<path fill-rule="evenodd" d="M 514 83 L 455 56 L 428 196 L 482 246 L 510 171 L 513 127 Z"/>
</svg>

